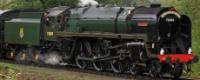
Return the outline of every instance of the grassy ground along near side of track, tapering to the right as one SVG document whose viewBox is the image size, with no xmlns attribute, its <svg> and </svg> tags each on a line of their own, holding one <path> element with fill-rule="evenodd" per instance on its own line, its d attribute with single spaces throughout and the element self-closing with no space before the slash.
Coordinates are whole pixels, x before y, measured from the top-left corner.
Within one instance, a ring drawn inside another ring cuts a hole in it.
<svg viewBox="0 0 200 80">
<path fill-rule="evenodd" d="M 0 63 L 0 80 L 130 80 L 83 72 Z"/>
</svg>

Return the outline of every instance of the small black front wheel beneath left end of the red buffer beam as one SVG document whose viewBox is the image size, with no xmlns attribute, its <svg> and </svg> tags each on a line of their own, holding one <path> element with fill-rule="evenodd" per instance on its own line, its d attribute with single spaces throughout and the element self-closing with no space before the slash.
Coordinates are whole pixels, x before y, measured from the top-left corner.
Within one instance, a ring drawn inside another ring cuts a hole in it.
<svg viewBox="0 0 200 80">
<path fill-rule="evenodd" d="M 150 76 L 159 77 L 161 73 L 161 69 L 162 69 L 162 66 L 158 61 L 156 60 L 152 61 L 150 64 L 150 71 L 149 71 Z"/>
</svg>

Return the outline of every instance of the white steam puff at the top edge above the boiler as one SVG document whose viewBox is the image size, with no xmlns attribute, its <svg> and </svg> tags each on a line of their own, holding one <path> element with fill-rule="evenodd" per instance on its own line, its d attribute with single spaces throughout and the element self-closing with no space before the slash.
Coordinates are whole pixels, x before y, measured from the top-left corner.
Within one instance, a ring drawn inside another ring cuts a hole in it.
<svg viewBox="0 0 200 80">
<path fill-rule="evenodd" d="M 79 0 L 78 6 L 87 6 L 87 5 L 98 5 L 99 3 L 95 0 Z"/>
</svg>

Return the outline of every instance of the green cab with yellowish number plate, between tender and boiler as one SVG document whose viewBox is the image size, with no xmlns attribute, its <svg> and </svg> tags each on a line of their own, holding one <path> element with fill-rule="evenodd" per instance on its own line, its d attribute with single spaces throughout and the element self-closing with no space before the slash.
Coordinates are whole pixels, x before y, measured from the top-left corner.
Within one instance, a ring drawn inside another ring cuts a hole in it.
<svg viewBox="0 0 200 80">
<path fill-rule="evenodd" d="M 59 16 L 60 15 L 64 15 L 65 17 L 67 17 L 67 11 L 68 11 L 69 7 L 65 7 L 65 6 L 61 6 L 61 7 L 55 7 L 55 8 L 50 8 L 47 10 L 48 13 L 48 19 L 49 19 L 49 23 L 50 25 L 44 25 L 44 39 L 46 41 L 56 41 L 56 37 L 53 35 L 54 32 L 60 31 L 60 23 L 59 21 Z M 66 25 L 67 22 L 65 20 L 64 25 Z"/>
</svg>

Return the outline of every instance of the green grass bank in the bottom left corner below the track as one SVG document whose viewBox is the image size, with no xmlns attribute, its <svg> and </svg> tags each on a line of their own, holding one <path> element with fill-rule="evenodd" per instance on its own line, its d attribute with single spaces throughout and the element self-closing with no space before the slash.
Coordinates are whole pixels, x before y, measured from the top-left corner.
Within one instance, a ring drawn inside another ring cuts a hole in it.
<svg viewBox="0 0 200 80">
<path fill-rule="evenodd" d="M 88 78 L 66 76 L 61 71 L 43 68 L 15 66 L 0 63 L 0 80 L 88 80 Z"/>
</svg>

